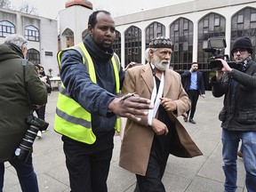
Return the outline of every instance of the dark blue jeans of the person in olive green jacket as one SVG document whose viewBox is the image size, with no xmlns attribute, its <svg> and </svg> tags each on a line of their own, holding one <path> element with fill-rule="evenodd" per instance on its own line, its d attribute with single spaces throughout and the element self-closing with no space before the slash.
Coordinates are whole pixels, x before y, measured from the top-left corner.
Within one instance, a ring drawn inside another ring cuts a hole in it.
<svg viewBox="0 0 256 192">
<path fill-rule="evenodd" d="M 38 192 L 38 183 L 36 179 L 36 173 L 32 164 L 32 156 L 28 157 L 26 163 L 21 162 L 17 158 L 13 158 L 9 161 L 10 164 L 15 168 L 18 178 L 20 180 L 20 187 L 22 192 Z M 4 163 L 0 163 L 0 192 L 4 188 Z"/>
</svg>

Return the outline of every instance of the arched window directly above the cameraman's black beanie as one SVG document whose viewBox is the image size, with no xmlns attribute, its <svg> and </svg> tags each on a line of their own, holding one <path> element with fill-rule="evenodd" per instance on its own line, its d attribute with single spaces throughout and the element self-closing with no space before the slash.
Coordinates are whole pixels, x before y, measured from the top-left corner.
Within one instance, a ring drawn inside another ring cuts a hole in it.
<svg viewBox="0 0 256 192">
<path fill-rule="evenodd" d="M 241 36 L 249 36 L 252 41 L 252 46 L 255 49 L 256 45 L 256 9 L 244 8 L 232 17 L 231 20 L 231 44 L 236 38 Z M 252 55 L 254 60 L 255 53 Z"/>
</svg>

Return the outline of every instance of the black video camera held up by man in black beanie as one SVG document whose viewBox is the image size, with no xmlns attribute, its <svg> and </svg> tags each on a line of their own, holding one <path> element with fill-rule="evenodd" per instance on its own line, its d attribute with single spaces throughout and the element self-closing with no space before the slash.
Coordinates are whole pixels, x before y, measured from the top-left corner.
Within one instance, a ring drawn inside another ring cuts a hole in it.
<svg viewBox="0 0 256 192">
<path fill-rule="evenodd" d="M 212 57 L 210 57 L 207 62 L 211 70 L 221 70 L 223 65 L 220 60 L 226 60 L 230 68 L 236 68 L 241 70 L 243 65 L 229 60 L 228 54 L 223 54 L 225 48 L 227 47 L 226 40 L 224 37 L 211 37 L 207 41 L 207 48 L 204 48 L 204 52 L 212 52 Z"/>
</svg>

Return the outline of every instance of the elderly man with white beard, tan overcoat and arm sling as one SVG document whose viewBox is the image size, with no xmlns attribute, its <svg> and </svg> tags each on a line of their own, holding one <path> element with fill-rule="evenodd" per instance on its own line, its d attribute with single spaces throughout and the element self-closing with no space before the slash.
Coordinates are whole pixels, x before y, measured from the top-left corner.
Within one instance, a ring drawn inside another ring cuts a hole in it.
<svg viewBox="0 0 256 192">
<path fill-rule="evenodd" d="M 129 68 L 124 78 L 122 94 L 136 92 L 154 104 L 140 123 L 128 119 L 125 125 L 119 165 L 136 174 L 135 191 L 165 191 L 162 177 L 166 162 L 177 148 L 172 143 L 177 138 L 176 116 L 190 108 L 180 75 L 169 69 L 171 55 L 171 40 L 156 37 L 146 51 L 148 63 Z"/>
</svg>

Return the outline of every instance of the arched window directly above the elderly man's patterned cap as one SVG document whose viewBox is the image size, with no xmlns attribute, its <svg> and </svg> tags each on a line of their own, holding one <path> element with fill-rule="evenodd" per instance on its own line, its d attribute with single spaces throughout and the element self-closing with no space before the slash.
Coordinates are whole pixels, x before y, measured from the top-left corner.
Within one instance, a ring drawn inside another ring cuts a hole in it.
<svg viewBox="0 0 256 192">
<path fill-rule="evenodd" d="M 146 47 L 150 41 L 158 36 L 165 36 L 165 27 L 162 23 L 153 22 L 146 28 Z"/>
</svg>

